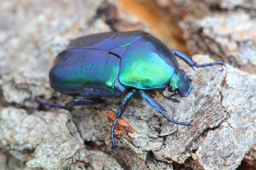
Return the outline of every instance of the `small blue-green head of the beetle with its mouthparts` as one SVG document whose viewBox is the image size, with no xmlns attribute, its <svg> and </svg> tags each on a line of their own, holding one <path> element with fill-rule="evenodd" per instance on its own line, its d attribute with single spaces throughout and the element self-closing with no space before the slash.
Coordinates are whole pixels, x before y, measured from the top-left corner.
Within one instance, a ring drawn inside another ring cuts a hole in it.
<svg viewBox="0 0 256 170">
<path fill-rule="evenodd" d="M 182 69 L 177 69 L 170 79 L 170 85 L 168 87 L 169 92 L 174 92 L 174 94 L 169 96 L 169 99 L 173 102 L 179 102 L 178 100 L 172 98 L 174 95 L 180 95 L 181 97 L 186 97 L 189 95 L 192 89 L 192 85 L 189 78 Z"/>
</svg>

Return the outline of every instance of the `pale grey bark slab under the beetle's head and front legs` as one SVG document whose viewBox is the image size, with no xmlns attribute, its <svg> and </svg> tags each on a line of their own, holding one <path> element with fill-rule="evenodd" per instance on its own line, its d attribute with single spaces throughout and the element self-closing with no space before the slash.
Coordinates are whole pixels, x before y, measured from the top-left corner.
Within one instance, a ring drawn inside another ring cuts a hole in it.
<svg viewBox="0 0 256 170">
<path fill-rule="evenodd" d="M 210 62 L 207 56 L 198 55 L 194 59 L 198 63 Z M 172 123 L 165 125 L 166 120 L 144 101 L 141 101 L 140 106 L 131 103 L 123 117 L 128 122 L 131 121 L 132 127 L 140 133 L 131 135 L 132 144 L 126 141 L 127 138 L 123 142 L 128 143 L 129 147 L 144 160 L 146 160 L 146 151 L 151 150 L 159 160 L 184 163 L 196 151 L 199 155 L 198 161 L 206 169 L 236 168 L 252 147 L 256 132 L 254 125 L 256 113 L 253 106 L 256 76 L 229 65 L 227 68 L 216 65 L 195 69 L 196 71 L 193 71 L 189 68 L 186 71 L 193 79 L 194 85 L 193 91 L 187 98 L 181 99 L 179 104 L 163 99 L 159 101 L 167 110 L 167 115 L 182 122 L 193 119 L 193 126 L 184 127 Z M 140 116 L 133 114 L 138 109 L 141 109 Z M 147 119 L 150 122 L 143 125 L 140 121 L 145 121 L 141 118 L 145 114 L 148 115 Z M 135 117 L 137 126 L 133 123 L 132 117 Z M 145 135 L 140 131 L 146 129 L 146 132 L 152 126 L 157 127 L 160 124 L 162 124 L 160 131 L 152 129 L 153 132 L 155 131 L 154 135 L 161 134 L 161 129 L 167 127 L 176 127 L 177 130 L 161 135 L 160 138 L 154 138 L 150 134 Z M 159 145 L 161 147 L 157 149 Z M 211 152 L 212 150 L 214 153 Z M 208 152 L 211 154 L 207 155 Z M 220 159 L 224 161 L 219 161 Z M 213 165 L 208 161 L 214 162 Z"/>
</svg>

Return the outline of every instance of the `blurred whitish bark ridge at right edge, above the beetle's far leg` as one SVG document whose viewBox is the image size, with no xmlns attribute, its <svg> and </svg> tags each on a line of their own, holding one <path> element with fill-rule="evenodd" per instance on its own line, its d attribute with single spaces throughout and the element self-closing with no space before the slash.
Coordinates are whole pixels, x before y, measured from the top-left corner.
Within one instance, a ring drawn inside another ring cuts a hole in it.
<svg viewBox="0 0 256 170">
<path fill-rule="evenodd" d="M 192 53 L 211 53 L 236 66 L 256 66 L 256 19 L 248 13 L 216 13 L 180 26 L 190 29 L 183 36 Z"/>
</svg>

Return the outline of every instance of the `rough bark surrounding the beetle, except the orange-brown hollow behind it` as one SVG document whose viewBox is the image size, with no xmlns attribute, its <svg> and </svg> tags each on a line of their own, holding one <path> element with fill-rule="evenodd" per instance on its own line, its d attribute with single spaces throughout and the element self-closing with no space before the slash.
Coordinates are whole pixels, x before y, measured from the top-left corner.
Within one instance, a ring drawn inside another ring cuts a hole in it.
<svg viewBox="0 0 256 170">
<path fill-rule="evenodd" d="M 164 98 L 157 102 L 169 117 L 193 120 L 193 126 L 168 123 L 145 101 L 135 100 L 116 126 L 115 140 L 123 150 L 112 149 L 110 140 L 118 102 L 69 112 L 39 106 L 35 99 L 58 104 L 72 99 L 54 92 L 48 78 L 55 56 L 70 39 L 111 30 L 152 33 L 146 23 L 115 1 L 1 4 L 1 169 L 235 169 L 242 160 L 255 166 L 256 76 L 233 67 L 254 71 L 254 1 L 154 1 L 182 19 L 190 53 L 207 53 L 233 66 L 194 71 L 179 60 L 193 79 L 193 90 L 178 104 Z M 214 61 L 207 55 L 193 59 Z"/>
</svg>

